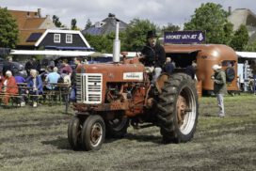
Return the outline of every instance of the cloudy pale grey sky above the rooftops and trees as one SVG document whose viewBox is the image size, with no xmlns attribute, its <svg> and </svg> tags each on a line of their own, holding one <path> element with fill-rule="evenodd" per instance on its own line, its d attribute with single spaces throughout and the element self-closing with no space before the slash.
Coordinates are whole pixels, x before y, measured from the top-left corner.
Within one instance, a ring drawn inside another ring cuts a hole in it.
<svg viewBox="0 0 256 171">
<path fill-rule="evenodd" d="M 249 8 L 256 13 L 256 0 L 0 0 L 0 7 L 24 11 L 40 8 L 43 17 L 56 15 L 68 27 L 76 19 L 77 26 L 83 29 L 88 19 L 92 24 L 101 22 L 108 13 L 125 23 L 138 18 L 158 26 L 168 23 L 181 26 L 190 21 L 196 8 L 208 2 L 220 4 L 226 10 Z"/>
</svg>

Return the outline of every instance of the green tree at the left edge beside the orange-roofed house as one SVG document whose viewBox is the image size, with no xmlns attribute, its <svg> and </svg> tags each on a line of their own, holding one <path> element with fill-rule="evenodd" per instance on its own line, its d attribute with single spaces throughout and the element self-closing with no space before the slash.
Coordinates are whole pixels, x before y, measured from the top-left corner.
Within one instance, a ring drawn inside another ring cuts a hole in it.
<svg viewBox="0 0 256 171">
<path fill-rule="evenodd" d="M 18 43 L 19 29 L 7 8 L 0 8 L 0 47 L 15 48 Z"/>
</svg>

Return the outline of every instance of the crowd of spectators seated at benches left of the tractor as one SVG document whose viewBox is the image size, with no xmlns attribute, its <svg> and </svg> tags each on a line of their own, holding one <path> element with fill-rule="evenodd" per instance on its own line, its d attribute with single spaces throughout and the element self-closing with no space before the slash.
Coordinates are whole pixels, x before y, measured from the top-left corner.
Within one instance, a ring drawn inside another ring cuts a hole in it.
<svg viewBox="0 0 256 171">
<path fill-rule="evenodd" d="M 49 65 L 41 68 L 40 60 L 32 57 L 24 65 L 25 74 L 22 71 L 13 70 L 11 67 L 12 57 L 3 65 L 0 72 L 0 101 L 8 105 L 11 95 L 23 95 L 20 99 L 21 106 L 26 104 L 25 95 L 31 95 L 33 107 L 38 106 L 39 95 L 46 90 L 57 90 L 58 84 L 67 85 L 71 90 L 70 100 L 75 101 L 75 70 L 69 65 L 68 59 L 50 61 Z M 74 57 L 73 63 L 81 65 L 81 59 Z M 75 69 L 75 68 L 74 68 Z"/>
</svg>

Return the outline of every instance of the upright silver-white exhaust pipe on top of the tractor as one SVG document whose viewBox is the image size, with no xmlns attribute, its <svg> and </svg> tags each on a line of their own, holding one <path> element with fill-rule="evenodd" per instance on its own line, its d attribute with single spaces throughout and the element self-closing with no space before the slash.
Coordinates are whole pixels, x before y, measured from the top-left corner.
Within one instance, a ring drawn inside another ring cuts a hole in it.
<svg viewBox="0 0 256 171">
<path fill-rule="evenodd" d="M 120 21 L 116 20 L 116 36 L 113 44 L 113 62 L 120 62 Z"/>
</svg>

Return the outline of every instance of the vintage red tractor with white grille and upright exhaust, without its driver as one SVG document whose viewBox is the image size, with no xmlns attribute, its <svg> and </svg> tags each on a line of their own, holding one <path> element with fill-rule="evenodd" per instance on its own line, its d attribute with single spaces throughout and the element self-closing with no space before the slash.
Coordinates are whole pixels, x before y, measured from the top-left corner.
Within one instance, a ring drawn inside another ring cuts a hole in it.
<svg viewBox="0 0 256 171">
<path fill-rule="evenodd" d="M 162 73 L 155 85 L 138 57 L 120 61 L 119 23 L 113 62 L 77 68 L 77 102 L 69 123 L 72 149 L 98 150 L 105 137 L 123 137 L 128 126 L 160 127 L 163 142 L 192 139 L 198 121 L 195 81 L 183 69 Z"/>
</svg>

